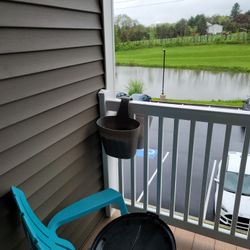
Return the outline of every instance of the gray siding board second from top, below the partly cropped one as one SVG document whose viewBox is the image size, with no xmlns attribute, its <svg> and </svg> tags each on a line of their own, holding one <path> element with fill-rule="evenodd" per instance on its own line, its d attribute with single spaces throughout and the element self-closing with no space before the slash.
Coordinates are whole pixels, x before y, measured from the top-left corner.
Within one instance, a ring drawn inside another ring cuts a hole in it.
<svg viewBox="0 0 250 250">
<path fill-rule="evenodd" d="M 73 10 L 64 10 L 22 4 L 1 2 L 0 26 L 62 29 L 100 29 L 100 15 Z"/>
</svg>

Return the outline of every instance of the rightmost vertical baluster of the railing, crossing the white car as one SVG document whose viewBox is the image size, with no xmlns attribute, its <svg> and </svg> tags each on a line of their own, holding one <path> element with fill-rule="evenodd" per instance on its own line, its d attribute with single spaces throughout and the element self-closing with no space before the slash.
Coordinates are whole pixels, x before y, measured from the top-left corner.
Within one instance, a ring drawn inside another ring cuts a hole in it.
<svg viewBox="0 0 250 250">
<path fill-rule="evenodd" d="M 237 192 L 236 192 L 235 202 L 234 202 L 231 235 L 235 235 L 236 225 L 238 221 L 241 193 L 242 193 L 243 181 L 244 181 L 244 176 L 245 176 L 245 171 L 246 171 L 248 149 L 249 149 L 249 140 L 250 140 L 250 127 L 246 127 L 244 145 L 243 145 L 243 150 L 242 150 L 242 157 L 241 157 L 241 162 L 240 162 L 240 172 L 239 172 L 239 177 L 238 177 Z"/>
</svg>

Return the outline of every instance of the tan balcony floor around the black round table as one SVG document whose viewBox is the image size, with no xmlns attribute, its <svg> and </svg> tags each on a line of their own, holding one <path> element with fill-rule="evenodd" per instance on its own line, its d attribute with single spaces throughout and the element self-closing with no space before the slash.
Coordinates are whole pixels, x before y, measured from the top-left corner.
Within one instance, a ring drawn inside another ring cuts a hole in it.
<svg viewBox="0 0 250 250">
<path fill-rule="evenodd" d="M 119 212 L 116 211 L 112 218 L 107 218 L 101 221 L 82 250 L 88 250 L 98 232 L 100 232 L 100 230 L 110 221 L 119 216 Z M 177 227 L 170 226 L 170 228 L 175 236 L 177 250 L 247 250 L 246 248 L 231 245 Z"/>
</svg>

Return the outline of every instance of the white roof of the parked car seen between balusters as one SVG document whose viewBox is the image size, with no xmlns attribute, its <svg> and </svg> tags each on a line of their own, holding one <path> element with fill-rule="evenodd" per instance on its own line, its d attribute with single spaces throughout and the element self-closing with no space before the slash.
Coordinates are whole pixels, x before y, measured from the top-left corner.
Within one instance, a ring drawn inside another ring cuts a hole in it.
<svg viewBox="0 0 250 250">
<path fill-rule="evenodd" d="M 229 152 L 228 153 L 228 167 L 227 170 L 235 173 L 239 173 L 241 162 L 241 152 Z M 250 154 L 247 156 L 246 174 L 250 175 Z"/>
</svg>

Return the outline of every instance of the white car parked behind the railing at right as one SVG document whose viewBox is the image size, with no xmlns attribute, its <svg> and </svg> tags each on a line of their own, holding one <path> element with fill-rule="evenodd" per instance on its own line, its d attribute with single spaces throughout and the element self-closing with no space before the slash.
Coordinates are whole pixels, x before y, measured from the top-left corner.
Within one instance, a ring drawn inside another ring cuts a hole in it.
<svg viewBox="0 0 250 250">
<path fill-rule="evenodd" d="M 227 160 L 227 169 L 224 182 L 223 198 L 221 204 L 221 216 L 220 221 L 225 225 L 231 226 L 235 193 L 237 190 L 237 180 L 239 176 L 241 162 L 241 153 L 240 152 L 229 152 Z M 217 177 L 214 178 L 216 182 L 216 191 L 215 191 L 215 211 L 219 190 L 220 182 L 220 170 L 221 170 L 221 161 L 219 163 Z M 250 221 L 250 154 L 247 157 L 246 171 L 243 182 L 243 189 L 241 195 L 239 216 L 237 228 L 239 229 L 248 229 Z"/>
</svg>

